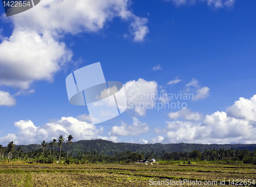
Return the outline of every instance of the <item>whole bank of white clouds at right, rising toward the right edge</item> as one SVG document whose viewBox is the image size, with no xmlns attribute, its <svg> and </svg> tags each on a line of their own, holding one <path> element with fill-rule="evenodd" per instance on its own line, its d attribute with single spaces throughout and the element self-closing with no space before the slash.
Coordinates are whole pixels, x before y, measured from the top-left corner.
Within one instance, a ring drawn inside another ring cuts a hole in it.
<svg viewBox="0 0 256 187">
<path fill-rule="evenodd" d="M 171 119 L 182 117 L 185 121 L 168 121 L 164 129 L 155 129 L 165 134 L 163 143 L 217 143 L 217 144 L 255 144 L 256 95 L 251 99 L 240 98 L 227 112 L 205 115 L 182 109 L 170 112 Z M 201 123 L 191 121 L 202 120 Z"/>
</svg>

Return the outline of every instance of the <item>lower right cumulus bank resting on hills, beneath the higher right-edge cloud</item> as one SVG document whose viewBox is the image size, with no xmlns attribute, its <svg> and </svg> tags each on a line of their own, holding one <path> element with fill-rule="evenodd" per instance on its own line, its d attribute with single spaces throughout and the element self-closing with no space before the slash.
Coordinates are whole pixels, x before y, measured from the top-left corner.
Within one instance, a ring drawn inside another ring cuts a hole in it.
<svg viewBox="0 0 256 187">
<path fill-rule="evenodd" d="M 256 143 L 256 127 L 249 121 L 230 118 L 225 112 L 206 115 L 203 123 L 166 122 L 164 143 Z"/>
</svg>

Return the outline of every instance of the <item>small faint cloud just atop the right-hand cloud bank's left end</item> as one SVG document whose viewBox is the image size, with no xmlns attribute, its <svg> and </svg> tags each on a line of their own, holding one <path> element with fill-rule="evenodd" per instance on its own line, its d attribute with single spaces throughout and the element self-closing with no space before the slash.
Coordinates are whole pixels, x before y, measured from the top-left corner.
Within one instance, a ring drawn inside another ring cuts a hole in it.
<svg viewBox="0 0 256 187">
<path fill-rule="evenodd" d="M 199 121 L 202 119 L 202 114 L 200 114 L 199 112 L 191 112 L 187 108 L 183 108 L 177 112 L 170 112 L 168 113 L 168 116 L 172 120 L 184 118 L 185 120 L 189 120 L 189 121 Z"/>
</svg>

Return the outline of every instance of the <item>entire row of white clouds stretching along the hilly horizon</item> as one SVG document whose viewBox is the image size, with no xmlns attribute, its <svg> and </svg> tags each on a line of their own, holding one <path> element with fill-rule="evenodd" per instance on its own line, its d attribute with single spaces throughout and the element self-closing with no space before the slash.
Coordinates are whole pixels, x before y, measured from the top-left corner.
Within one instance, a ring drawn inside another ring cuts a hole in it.
<svg viewBox="0 0 256 187">
<path fill-rule="evenodd" d="M 200 143 L 200 144 L 256 144 L 255 111 L 256 95 L 251 99 L 240 98 L 227 112 L 217 111 L 203 116 L 199 112 L 182 109 L 170 112 L 168 115 L 174 121 L 166 121 L 164 128 L 156 128 L 156 137 L 149 143 Z M 238 115 L 239 114 L 239 115 Z M 102 138 L 113 142 L 120 142 L 121 136 L 138 136 L 150 131 L 149 125 L 133 117 L 133 124 L 121 122 L 121 126 L 113 126 L 109 137 L 101 136 L 103 127 L 96 128 L 86 114 L 76 118 L 62 117 L 60 120 L 36 127 L 30 120 L 15 122 L 18 132 L 0 138 L 0 144 L 40 143 L 43 139 L 50 141 L 60 134 L 65 137 L 74 136 L 74 141 L 81 139 Z M 184 121 L 178 120 L 182 118 Z M 196 122 L 196 121 L 201 122 Z M 138 143 L 147 144 L 148 141 L 139 138 Z"/>
</svg>

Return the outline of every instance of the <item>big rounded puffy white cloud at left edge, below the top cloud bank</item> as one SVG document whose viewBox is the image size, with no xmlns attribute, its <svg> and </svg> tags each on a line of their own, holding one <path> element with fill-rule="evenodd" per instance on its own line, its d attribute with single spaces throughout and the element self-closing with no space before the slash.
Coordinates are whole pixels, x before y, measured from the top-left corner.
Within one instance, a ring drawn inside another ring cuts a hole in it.
<svg viewBox="0 0 256 187">
<path fill-rule="evenodd" d="M 0 85 L 28 89 L 35 80 L 52 81 L 71 57 L 65 44 L 49 33 L 15 29 L 0 44 Z"/>
</svg>

